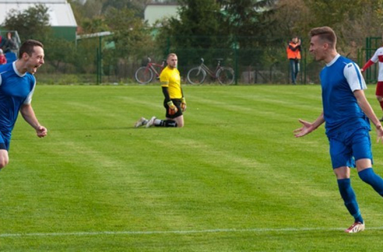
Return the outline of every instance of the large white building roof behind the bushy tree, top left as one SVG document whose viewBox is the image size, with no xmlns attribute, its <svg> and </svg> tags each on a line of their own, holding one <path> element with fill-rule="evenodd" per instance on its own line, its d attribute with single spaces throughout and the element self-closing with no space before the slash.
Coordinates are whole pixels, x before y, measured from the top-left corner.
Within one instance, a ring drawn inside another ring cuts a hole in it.
<svg viewBox="0 0 383 252">
<path fill-rule="evenodd" d="M 67 0 L 0 0 L 0 24 L 4 23 L 12 9 L 23 12 L 36 4 L 42 4 L 48 8 L 51 26 L 77 27 L 71 5 Z"/>
</svg>

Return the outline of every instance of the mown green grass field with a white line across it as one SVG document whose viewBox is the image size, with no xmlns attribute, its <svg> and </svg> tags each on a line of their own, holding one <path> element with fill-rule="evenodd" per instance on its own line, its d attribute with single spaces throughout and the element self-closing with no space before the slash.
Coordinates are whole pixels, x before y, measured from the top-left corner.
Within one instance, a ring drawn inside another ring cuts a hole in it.
<svg viewBox="0 0 383 252">
<path fill-rule="evenodd" d="M 158 86 L 38 86 L 33 106 L 49 132 L 39 139 L 16 124 L 0 171 L 0 250 L 381 250 L 383 200 L 353 170 L 367 229 L 345 234 L 353 218 L 324 128 L 293 137 L 298 118 L 320 114 L 320 86 L 184 93 L 183 129 L 134 129 L 141 116 L 164 116 Z"/>
</svg>

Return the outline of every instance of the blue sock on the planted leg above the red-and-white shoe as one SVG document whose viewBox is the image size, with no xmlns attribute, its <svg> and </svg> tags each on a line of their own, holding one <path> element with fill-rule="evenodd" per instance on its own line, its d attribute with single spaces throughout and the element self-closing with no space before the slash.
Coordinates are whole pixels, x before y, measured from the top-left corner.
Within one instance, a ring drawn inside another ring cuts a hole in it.
<svg viewBox="0 0 383 252">
<path fill-rule="evenodd" d="M 355 218 L 355 222 L 360 221 L 363 223 L 363 218 L 360 214 L 359 206 L 356 202 L 355 193 L 351 187 L 350 179 L 338 179 L 338 187 L 348 212 Z"/>
</svg>

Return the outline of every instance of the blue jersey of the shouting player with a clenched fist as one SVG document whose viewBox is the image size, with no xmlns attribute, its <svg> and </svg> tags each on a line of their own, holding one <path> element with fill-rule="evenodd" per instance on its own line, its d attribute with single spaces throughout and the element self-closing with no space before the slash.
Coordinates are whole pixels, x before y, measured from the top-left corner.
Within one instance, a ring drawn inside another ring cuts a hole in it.
<svg viewBox="0 0 383 252">
<path fill-rule="evenodd" d="M 36 85 L 30 73 L 20 74 L 15 62 L 0 66 L 0 131 L 10 137 L 22 104 L 30 104 Z"/>
</svg>

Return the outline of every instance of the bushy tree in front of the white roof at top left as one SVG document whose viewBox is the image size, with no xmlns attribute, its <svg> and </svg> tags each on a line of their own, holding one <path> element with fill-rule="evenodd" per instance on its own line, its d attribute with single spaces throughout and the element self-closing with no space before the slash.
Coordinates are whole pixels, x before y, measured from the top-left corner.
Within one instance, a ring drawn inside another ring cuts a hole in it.
<svg viewBox="0 0 383 252">
<path fill-rule="evenodd" d="M 12 9 L 7 13 L 4 26 L 8 30 L 16 30 L 22 41 L 26 39 L 42 40 L 51 35 L 48 8 L 36 4 L 23 12 Z"/>
</svg>

